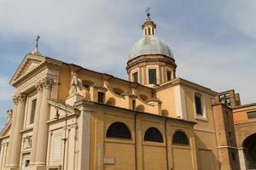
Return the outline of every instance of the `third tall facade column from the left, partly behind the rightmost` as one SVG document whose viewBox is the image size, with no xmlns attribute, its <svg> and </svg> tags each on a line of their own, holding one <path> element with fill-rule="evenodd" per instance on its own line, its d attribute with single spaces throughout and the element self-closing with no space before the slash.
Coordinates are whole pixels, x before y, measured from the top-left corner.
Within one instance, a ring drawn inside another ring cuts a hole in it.
<svg viewBox="0 0 256 170">
<path fill-rule="evenodd" d="M 40 108 L 42 101 L 42 93 L 43 93 L 43 85 L 42 82 L 38 82 L 37 85 L 37 108 L 35 114 L 35 122 L 33 125 L 33 133 L 32 133 L 32 150 L 31 150 L 31 163 L 30 165 L 34 165 L 36 162 L 36 153 L 37 153 L 37 144 L 38 144 L 38 128 L 39 128 L 39 116 L 40 116 Z"/>
</svg>

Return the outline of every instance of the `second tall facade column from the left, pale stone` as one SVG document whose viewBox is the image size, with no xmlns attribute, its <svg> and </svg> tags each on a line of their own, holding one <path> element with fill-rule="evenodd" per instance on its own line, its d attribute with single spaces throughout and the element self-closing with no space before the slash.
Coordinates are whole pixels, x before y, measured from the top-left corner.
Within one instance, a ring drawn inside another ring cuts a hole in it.
<svg viewBox="0 0 256 170">
<path fill-rule="evenodd" d="M 23 127 L 24 114 L 25 114 L 25 105 L 26 105 L 26 95 L 19 94 L 18 97 L 18 107 L 15 120 L 15 131 L 13 136 L 11 154 L 10 154 L 10 169 L 19 169 L 20 165 L 20 148 L 21 148 L 21 133 L 20 130 Z"/>
</svg>

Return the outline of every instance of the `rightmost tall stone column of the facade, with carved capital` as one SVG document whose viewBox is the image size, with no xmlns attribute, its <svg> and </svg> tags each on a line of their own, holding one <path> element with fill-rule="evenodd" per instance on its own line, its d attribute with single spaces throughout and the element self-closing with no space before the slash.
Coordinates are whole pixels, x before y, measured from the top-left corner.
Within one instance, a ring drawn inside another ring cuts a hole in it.
<svg viewBox="0 0 256 170">
<path fill-rule="evenodd" d="M 47 99 L 50 99 L 51 87 L 53 81 L 45 78 L 42 81 L 43 93 L 41 98 L 39 123 L 38 123 L 38 141 L 37 141 L 37 152 L 36 152 L 36 164 L 37 167 L 46 166 L 46 156 L 47 156 L 47 141 L 48 141 L 48 125 L 47 121 L 49 119 L 49 105 Z M 42 169 L 42 168 L 40 168 Z"/>
</svg>

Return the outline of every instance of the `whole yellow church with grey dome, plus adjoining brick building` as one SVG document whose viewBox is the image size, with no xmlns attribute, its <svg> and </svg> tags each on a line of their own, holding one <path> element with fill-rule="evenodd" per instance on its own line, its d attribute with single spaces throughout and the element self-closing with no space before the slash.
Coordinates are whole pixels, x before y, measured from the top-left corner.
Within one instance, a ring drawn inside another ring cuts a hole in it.
<svg viewBox="0 0 256 170">
<path fill-rule="evenodd" d="M 26 54 L 10 80 L 14 107 L 0 133 L 0 170 L 254 166 L 244 148 L 256 140 L 238 148 L 236 129 L 247 120 L 245 107 L 256 118 L 256 105 L 176 77 L 175 56 L 156 35 L 148 13 L 128 56 L 128 81 L 49 58 L 38 45 Z"/>
</svg>

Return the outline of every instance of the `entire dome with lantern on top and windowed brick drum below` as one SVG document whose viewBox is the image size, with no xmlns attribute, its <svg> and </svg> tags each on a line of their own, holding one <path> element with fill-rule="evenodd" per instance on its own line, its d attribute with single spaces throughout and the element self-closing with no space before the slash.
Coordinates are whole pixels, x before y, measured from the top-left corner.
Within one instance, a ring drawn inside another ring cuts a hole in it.
<svg viewBox="0 0 256 170">
<path fill-rule="evenodd" d="M 167 43 L 155 36 L 156 25 L 148 19 L 142 26 L 143 38 L 131 48 L 126 71 L 131 82 L 154 87 L 176 78 L 175 59 Z"/>
</svg>

